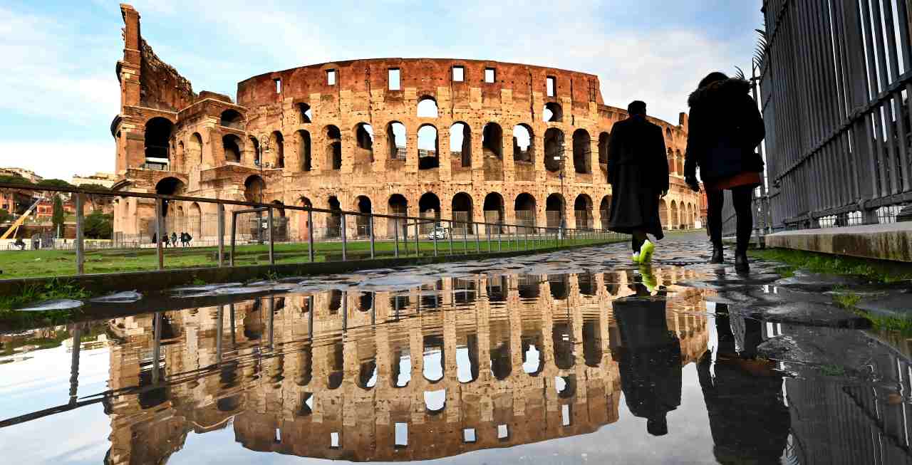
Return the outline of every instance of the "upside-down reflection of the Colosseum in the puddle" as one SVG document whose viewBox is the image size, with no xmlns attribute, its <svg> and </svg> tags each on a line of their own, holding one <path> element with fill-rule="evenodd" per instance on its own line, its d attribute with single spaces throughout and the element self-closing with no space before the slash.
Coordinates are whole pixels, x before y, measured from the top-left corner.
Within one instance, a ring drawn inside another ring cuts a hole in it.
<svg viewBox="0 0 912 465">
<path fill-rule="evenodd" d="M 658 277 L 672 284 L 684 273 Z M 170 387 L 161 388 L 149 388 L 154 317 L 113 320 L 123 338 L 111 348 L 110 387 L 147 390 L 109 402 L 112 463 L 157 462 L 191 430 L 223 429 L 229 418 L 247 449 L 358 461 L 595 431 L 617 420 L 611 301 L 633 294 L 631 276 L 482 276 L 408 293 L 285 295 L 271 320 L 268 298 L 225 305 L 222 331 L 217 307 L 166 312 L 160 373 Z M 700 311 L 699 292 L 672 289 L 668 329 L 683 366 L 706 350 L 707 326 L 673 311 Z"/>
</svg>

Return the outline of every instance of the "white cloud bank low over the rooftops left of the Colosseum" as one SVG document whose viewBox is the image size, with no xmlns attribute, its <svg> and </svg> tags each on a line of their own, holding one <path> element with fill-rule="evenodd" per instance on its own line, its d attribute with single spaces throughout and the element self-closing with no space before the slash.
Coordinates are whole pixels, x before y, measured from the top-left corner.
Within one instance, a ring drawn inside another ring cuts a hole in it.
<svg viewBox="0 0 912 465">
<path fill-rule="evenodd" d="M 64 181 L 74 174 L 96 171 L 113 172 L 114 140 L 0 140 L 0 166 L 16 166 L 32 170 L 45 178 Z"/>
</svg>

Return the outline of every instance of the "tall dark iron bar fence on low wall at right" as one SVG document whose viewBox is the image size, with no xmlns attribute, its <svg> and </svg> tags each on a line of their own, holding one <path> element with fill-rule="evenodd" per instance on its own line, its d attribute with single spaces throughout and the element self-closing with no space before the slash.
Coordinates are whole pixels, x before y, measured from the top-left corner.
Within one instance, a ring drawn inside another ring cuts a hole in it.
<svg viewBox="0 0 912 465">
<path fill-rule="evenodd" d="M 912 0 L 765 0 L 754 67 L 773 229 L 912 202 Z"/>
</svg>

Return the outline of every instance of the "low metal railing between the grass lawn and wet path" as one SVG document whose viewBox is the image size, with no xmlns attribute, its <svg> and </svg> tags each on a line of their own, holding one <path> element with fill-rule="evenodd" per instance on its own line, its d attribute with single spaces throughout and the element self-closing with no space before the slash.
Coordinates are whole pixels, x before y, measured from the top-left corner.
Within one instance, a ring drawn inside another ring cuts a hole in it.
<svg viewBox="0 0 912 465">
<path fill-rule="evenodd" d="M 0 182 L 0 190 L 34 189 L 34 186 Z M 130 191 L 99 191 L 77 187 L 50 187 L 46 191 L 68 192 L 75 194 L 76 202 L 76 238 L 73 248 L 76 252 L 76 274 L 85 274 L 85 214 L 83 212 L 85 198 L 93 196 L 111 196 L 119 198 L 144 199 L 154 202 L 154 213 L 151 215 L 150 237 L 156 254 L 156 268 L 165 268 L 165 249 L 168 245 L 168 234 L 176 234 L 173 229 L 169 231 L 166 224 L 166 215 L 173 202 L 188 202 L 195 204 L 214 204 L 216 213 L 215 247 L 217 249 L 215 261 L 217 266 L 235 266 L 238 263 L 237 249 L 239 243 L 262 243 L 266 246 L 269 264 L 275 264 L 276 226 L 285 224 L 278 221 L 275 212 L 285 217 L 287 212 L 305 215 L 306 218 L 306 262 L 313 263 L 317 260 L 317 237 L 323 237 L 322 243 L 335 243 L 340 246 L 339 253 L 335 249 L 332 253 L 323 253 L 321 260 L 329 260 L 338 256 L 342 261 L 351 257 L 350 247 L 353 243 L 364 243 L 368 251 L 358 253 L 357 259 L 374 259 L 378 257 L 378 243 L 390 243 L 393 257 L 440 254 L 457 255 L 472 253 L 497 253 L 508 251 L 529 251 L 540 248 L 561 247 L 578 243 L 599 243 L 623 240 L 625 234 L 612 233 L 604 229 L 593 228 L 560 228 L 550 226 L 536 226 L 528 222 L 519 224 L 505 222 L 474 222 L 460 219 L 441 219 L 436 217 L 412 217 L 404 214 L 383 214 L 373 212 L 346 212 L 341 210 L 327 210 L 307 206 L 284 205 L 277 203 L 244 202 L 224 199 L 210 199 L 202 197 L 188 197 L 181 195 L 164 195 L 146 192 Z M 232 207 L 230 210 L 226 207 Z M 228 214 L 230 224 L 226 221 Z M 252 222 L 245 222 L 242 215 L 256 215 Z M 316 226 L 315 215 L 326 217 L 326 228 Z M 302 218 L 303 219 L 303 218 Z M 336 220 L 337 219 L 337 220 Z M 392 232 L 391 238 L 378 237 L 376 222 L 389 222 Z M 349 224 L 351 222 L 351 224 Z M 174 224 L 173 222 L 171 224 Z M 255 224 L 256 233 L 244 232 L 244 224 Z M 262 227 L 261 227 L 262 225 Z M 337 234 L 335 233 L 337 225 Z M 239 228 L 240 227 L 240 228 Z M 230 228 L 230 230 L 229 230 Z M 230 233 L 229 233 L 230 231 Z M 261 231 L 264 231 L 263 234 Z M 335 237 L 333 237 L 335 235 Z M 265 237 L 264 237 L 265 236 Z M 366 239 L 358 240 L 358 236 Z M 423 236 L 423 237 L 422 237 Z M 482 237 L 483 236 L 483 237 Z M 141 237 L 138 235 L 138 237 Z M 173 235 L 171 236 L 173 237 Z M 331 240 L 326 241 L 326 237 Z M 196 241 L 196 239 L 193 239 Z M 212 241 L 207 239 L 206 241 Z M 133 242 L 130 242 L 131 244 Z M 140 243 L 137 239 L 135 243 Z M 424 243 L 422 247 L 422 243 Z M 195 246 L 195 245 L 194 245 Z M 336 247 L 333 245 L 333 247 Z M 172 253 L 188 252 L 187 248 L 172 245 Z M 192 252 L 192 251 L 189 251 Z M 301 253 L 303 255 L 303 252 Z"/>
</svg>

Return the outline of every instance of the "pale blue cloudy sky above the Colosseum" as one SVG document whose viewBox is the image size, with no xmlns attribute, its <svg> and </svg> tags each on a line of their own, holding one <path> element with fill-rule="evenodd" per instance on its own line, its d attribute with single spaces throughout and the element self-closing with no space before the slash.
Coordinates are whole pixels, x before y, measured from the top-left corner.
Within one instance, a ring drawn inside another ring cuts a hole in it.
<svg viewBox="0 0 912 465">
<path fill-rule="evenodd" d="M 367 57 L 460 57 L 598 75 L 608 105 L 677 122 L 710 70 L 750 69 L 761 0 L 134 1 L 142 35 L 193 89 L 234 97 L 267 71 Z M 0 5 L 0 166 L 113 171 L 119 3 Z"/>
</svg>

